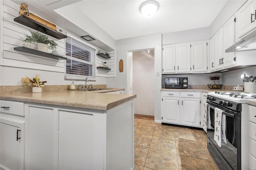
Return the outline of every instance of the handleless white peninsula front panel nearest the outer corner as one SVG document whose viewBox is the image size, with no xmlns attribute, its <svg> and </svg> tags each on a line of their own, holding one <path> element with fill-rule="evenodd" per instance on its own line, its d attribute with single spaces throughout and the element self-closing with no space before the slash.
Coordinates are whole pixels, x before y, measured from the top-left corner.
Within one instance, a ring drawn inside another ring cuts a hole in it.
<svg viewBox="0 0 256 170">
<path fill-rule="evenodd" d="M 59 111 L 58 169 L 104 169 L 106 119 L 102 117 L 95 113 Z"/>
</svg>

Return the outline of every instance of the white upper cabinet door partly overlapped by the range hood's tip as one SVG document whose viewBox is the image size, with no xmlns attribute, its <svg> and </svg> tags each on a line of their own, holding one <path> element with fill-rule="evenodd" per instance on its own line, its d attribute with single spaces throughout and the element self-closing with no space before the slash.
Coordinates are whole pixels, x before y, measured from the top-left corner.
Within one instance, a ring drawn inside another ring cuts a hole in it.
<svg viewBox="0 0 256 170">
<path fill-rule="evenodd" d="M 228 67 L 235 64 L 235 52 L 225 53 L 225 50 L 235 43 L 235 16 L 231 17 L 223 26 L 223 66 Z"/>
</svg>

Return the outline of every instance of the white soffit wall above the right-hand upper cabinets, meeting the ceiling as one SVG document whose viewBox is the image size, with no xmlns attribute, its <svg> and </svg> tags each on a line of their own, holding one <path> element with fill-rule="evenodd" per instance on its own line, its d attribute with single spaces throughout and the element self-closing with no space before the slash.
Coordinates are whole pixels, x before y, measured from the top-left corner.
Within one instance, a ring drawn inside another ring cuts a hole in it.
<svg viewBox="0 0 256 170">
<path fill-rule="evenodd" d="M 210 38 L 231 18 L 247 0 L 228 0 L 210 25 Z"/>
</svg>

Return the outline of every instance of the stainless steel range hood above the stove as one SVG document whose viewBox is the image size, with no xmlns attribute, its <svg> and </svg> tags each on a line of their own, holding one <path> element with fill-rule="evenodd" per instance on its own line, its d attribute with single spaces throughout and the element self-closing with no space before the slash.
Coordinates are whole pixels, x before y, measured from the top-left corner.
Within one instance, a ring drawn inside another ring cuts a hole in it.
<svg viewBox="0 0 256 170">
<path fill-rule="evenodd" d="M 225 50 L 226 53 L 256 49 L 256 30 Z"/>
</svg>

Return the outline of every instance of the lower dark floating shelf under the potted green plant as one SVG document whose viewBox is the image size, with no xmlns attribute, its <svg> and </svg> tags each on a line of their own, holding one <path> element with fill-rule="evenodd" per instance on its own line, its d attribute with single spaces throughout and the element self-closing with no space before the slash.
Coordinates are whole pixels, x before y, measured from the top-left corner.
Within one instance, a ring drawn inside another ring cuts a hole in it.
<svg viewBox="0 0 256 170">
<path fill-rule="evenodd" d="M 40 55 L 40 56 L 44 56 L 44 57 L 48 57 L 48 58 L 53 58 L 53 59 L 66 59 L 66 57 L 62 57 L 60 55 L 54 55 L 52 53 L 46 53 L 43 51 L 38 51 L 36 49 L 31 49 L 31 48 L 27 48 L 27 47 L 14 47 L 15 51 L 21 51 L 24 53 L 30 53 L 30 54 L 34 54 L 34 55 Z"/>
</svg>

